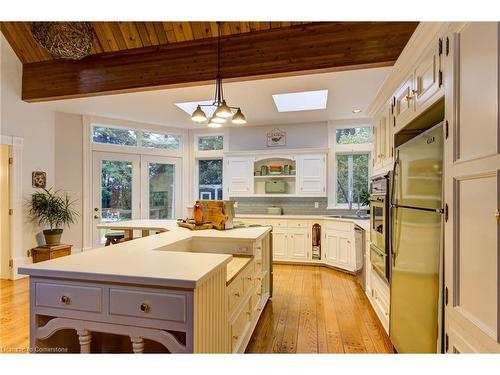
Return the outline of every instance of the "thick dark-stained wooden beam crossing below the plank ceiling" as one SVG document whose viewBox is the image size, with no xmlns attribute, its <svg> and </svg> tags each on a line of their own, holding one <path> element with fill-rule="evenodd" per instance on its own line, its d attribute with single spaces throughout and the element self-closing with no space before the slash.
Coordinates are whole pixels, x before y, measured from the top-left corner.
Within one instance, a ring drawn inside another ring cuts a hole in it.
<svg viewBox="0 0 500 375">
<path fill-rule="evenodd" d="M 325 22 L 224 36 L 222 76 L 243 80 L 392 65 L 418 23 Z M 216 39 L 24 64 L 23 100 L 187 86 L 214 79 Z"/>
</svg>

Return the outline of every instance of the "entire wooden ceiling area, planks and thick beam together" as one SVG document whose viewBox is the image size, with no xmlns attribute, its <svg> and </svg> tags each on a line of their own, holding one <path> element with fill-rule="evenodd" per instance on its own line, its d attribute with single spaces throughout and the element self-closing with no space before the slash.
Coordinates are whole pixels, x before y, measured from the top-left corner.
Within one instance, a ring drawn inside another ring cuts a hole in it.
<svg viewBox="0 0 500 375">
<path fill-rule="evenodd" d="M 225 22 L 224 79 L 259 79 L 393 65 L 417 22 Z M 23 62 L 22 98 L 46 101 L 213 81 L 214 22 L 94 22 L 93 54 L 54 59 L 26 22 L 2 32 Z"/>
</svg>

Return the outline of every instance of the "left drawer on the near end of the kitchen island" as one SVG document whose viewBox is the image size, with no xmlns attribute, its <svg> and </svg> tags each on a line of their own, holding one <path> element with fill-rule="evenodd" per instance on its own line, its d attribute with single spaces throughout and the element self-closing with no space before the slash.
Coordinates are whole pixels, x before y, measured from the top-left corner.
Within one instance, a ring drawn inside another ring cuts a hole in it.
<svg viewBox="0 0 500 375">
<path fill-rule="evenodd" d="M 35 304 L 39 307 L 100 313 L 102 288 L 70 284 L 36 283 Z"/>
</svg>

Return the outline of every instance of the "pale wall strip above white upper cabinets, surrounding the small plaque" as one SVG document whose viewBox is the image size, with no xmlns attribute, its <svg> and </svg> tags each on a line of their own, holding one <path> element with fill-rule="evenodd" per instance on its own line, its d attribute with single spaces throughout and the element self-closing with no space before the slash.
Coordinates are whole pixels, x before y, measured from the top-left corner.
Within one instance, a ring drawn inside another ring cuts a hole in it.
<svg viewBox="0 0 500 375">
<path fill-rule="evenodd" d="M 229 151 L 263 150 L 267 147 L 267 133 L 274 128 L 286 132 L 286 146 L 273 149 L 327 148 L 327 122 L 283 126 L 244 126 L 229 128 Z"/>
</svg>

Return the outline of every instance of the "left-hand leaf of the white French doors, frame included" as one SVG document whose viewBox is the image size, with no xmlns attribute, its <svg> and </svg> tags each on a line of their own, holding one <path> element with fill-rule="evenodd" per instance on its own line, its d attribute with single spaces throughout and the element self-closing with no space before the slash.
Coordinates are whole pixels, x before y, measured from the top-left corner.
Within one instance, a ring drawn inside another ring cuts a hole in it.
<svg viewBox="0 0 500 375">
<path fill-rule="evenodd" d="M 94 151 L 93 161 L 93 247 L 99 247 L 106 230 L 97 224 L 140 217 L 140 155 Z"/>
</svg>

